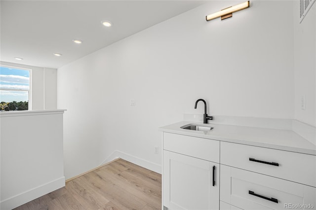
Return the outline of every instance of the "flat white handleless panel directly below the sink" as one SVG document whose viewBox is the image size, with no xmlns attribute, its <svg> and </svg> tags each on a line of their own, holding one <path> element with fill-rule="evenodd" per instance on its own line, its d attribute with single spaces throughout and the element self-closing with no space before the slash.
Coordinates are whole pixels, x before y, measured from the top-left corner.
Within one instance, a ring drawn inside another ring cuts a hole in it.
<svg viewBox="0 0 316 210">
<path fill-rule="evenodd" d="M 163 133 L 163 149 L 219 163 L 219 141 Z"/>
</svg>

